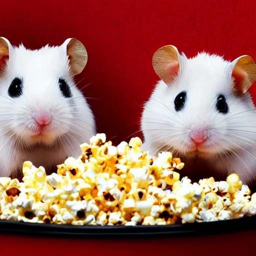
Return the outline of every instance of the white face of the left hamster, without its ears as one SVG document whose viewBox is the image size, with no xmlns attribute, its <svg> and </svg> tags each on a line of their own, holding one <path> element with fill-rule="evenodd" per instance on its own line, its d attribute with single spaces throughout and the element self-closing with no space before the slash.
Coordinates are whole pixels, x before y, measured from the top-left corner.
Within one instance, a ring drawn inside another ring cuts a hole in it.
<svg viewBox="0 0 256 256">
<path fill-rule="evenodd" d="M 16 143 L 49 146 L 66 135 L 77 139 L 86 126 L 94 131 L 86 99 L 68 75 L 66 48 L 13 47 L 5 71 L 0 80 L 1 126 Z"/>
</svg>

